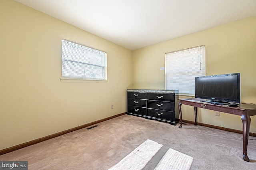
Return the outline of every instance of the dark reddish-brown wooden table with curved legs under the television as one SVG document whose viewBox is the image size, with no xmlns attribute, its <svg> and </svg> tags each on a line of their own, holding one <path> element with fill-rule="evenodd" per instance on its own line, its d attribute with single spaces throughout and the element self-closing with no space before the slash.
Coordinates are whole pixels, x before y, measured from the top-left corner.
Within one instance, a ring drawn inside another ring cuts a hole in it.
<svg viewBox="0 0 256 170">
<path fill-rule="evenodd" d="M 195 111 L 194 125 L 197 125 L 196 117 L 197 117 L 198 107 L 241 116 L 241 119 L 243 122 L 243 159 L 247 162 L 250 161 L 250 159 L 247 156 L 247 146 L 248 146 L 248 138 L 249 138 L 249 131 L 250 131 L 250 123 L 251 123 L 250 116 L 256 115 L 255 105 L 245 103 L 245 104 L 240 104 L 237 107 L 230 107 L 229 105 L 214 105 L 206 102 L 201 102 L 200 100 L 204 100 L 204 99 L 198 99 L 198 98 L 178 99 L 178 100 L 179 100 L 179 114 L 180 114 L 179 128 L 182 127 L 181 105 L 194 106 L 194 111 Z"/>
</svg>

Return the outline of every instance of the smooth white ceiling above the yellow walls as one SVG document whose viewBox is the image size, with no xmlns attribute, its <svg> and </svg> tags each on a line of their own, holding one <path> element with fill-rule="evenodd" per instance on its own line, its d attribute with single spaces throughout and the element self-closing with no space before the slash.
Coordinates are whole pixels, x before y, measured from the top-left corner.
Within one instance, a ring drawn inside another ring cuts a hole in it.
<svg viewBox="0 0 256 170">
<path fill-rule="evenodd" d="M 256 0 L 16 0 L 131 50 L 256 16 Z"/>
</svg>

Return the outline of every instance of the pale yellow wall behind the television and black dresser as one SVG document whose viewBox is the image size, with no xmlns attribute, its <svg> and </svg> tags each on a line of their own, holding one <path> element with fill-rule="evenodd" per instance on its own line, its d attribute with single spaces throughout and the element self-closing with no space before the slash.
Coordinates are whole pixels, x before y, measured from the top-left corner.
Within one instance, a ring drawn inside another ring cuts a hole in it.
<svg viewBox="0 0 256 170">
<path fill-rule="evenodd" d="M 165 53 L 206 45 L 206 75 L 241 73 L 242 103 L 256 104 L 256 16 L 133 51 L 133 88 L 165 89 Z M 180 98 L 185 96 L 180 96 Z M 198 122 L 242 130 L 241 117 L 198 109 Z M 182 119 L 194 121 L 194 108 L 182 106 Z M 256 133 L 256 116 L 250 132 Z"/>
</svg>

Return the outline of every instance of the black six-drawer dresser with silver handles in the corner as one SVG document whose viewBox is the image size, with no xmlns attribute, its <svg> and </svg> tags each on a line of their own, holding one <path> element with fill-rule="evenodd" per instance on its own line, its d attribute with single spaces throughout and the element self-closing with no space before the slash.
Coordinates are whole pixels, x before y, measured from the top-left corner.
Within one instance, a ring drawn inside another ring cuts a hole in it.
<svg viewBox="0 0 256 170">
<path fill-rule="evenodd" d="M 178 94 L 178 90 L 128 89 L 127 114 L 176 125 L 179 121 Z"/>
</svg>

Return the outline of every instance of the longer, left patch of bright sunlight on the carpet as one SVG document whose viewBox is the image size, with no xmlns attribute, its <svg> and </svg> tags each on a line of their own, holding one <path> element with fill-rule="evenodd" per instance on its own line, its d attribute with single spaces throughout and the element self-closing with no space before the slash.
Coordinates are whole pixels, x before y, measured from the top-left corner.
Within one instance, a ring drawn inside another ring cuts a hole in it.
<svg viewBox="0 0 256 170">
<path fill-rule="evenodd" d="M 162 146 L 162 144 L 148 139 L 116 165 L 112 166 L 110 170 L 141 170 Z"/>
</svg>

